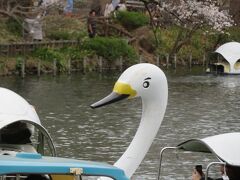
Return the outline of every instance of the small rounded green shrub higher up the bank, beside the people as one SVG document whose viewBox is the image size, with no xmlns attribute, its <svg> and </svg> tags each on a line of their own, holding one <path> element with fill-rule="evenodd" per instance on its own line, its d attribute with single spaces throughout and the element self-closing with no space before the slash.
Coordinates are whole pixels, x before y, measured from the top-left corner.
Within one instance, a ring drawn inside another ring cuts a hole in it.
<svg viewBox="0 0 240 180">
<path fill-rule="evenodd" d="M 140 12 L 119 11 L 116 18 L 128 30 L 149 24 L 149 17 Z"/>
</svg>

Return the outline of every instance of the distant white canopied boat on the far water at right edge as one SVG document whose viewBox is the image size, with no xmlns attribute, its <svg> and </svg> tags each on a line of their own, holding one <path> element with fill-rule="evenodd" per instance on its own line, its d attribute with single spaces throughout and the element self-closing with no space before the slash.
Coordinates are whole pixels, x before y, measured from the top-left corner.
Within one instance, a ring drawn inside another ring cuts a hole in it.
<svg viewBox="0 0 240 180">
<path fill-rule="evenodd" d="M 228 42 L 215 51 L 222 55 L 224 60 L 218 60 L 207 69 L 207 72 L 216 72 L 222 74 L 240 74 L 240 43 Z"/>
</svg>

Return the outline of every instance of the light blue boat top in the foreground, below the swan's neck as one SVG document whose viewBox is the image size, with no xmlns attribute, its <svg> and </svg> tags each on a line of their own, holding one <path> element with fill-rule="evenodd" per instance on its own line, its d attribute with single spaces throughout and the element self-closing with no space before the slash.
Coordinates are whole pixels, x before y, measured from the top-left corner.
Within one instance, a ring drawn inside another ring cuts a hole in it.
<svg viewBox="0 0 240 180">
<path fill-rule="evenodd" d="M 0 179 L 25 179 L 30 175 L 47 176 L 52 180 L 77 180 L 83 176 L 129 180 L 123 170 L 106 163 L 41 156 L 38 153 L 0 155 Z"/>
</svg>

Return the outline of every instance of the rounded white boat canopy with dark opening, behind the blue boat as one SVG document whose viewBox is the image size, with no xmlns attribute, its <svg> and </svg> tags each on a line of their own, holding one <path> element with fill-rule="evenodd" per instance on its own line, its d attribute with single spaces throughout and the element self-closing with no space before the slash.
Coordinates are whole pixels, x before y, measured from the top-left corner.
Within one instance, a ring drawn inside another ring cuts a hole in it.
<svg viewBox="0 0 240 180">
<path fill-rule="evenodd" d="M 39 152 L 55 156 L 56 150 L 35 108 L 15 92 L 0 88 L 0 154 Z M 34 137 L 33 137 L 34 136 Z"/>
</svg>

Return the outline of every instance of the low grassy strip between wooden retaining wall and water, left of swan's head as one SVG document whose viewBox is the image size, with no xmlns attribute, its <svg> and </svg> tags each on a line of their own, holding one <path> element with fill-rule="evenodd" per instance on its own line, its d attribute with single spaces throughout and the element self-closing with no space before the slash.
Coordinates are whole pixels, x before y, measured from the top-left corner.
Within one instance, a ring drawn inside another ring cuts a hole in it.
<svg viewBox="0 0 240 180">
<path fill-rule="evenodd" d="M 42 46 L 42 45 L 41 45 Z M 25 55 L 2 56 L 0 74 L 65 73 L 72 70 L 94 71 L 115 69 L 136 63 L 135 49 L 121 38 L 96 37 L 85 39 L 78 45 L 57 47 L 38 47 Z M 121 62 L 120 62 L 121 61 Z M 24 66 L 23 66 L 24 65 Z"/>
</svg>

